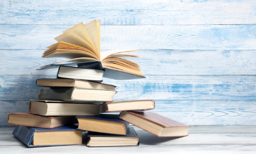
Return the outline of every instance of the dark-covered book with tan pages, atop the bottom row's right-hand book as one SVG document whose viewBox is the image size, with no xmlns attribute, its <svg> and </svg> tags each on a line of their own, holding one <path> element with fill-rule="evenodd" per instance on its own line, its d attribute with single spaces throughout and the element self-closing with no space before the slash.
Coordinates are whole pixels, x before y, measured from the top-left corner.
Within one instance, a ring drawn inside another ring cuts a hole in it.
<svg viewBox="0 0 256 154">
<path fill-rule="evenodd" d="M 86 131 L 94 131 L 94 132 L 102 132 L 109 134 L 121 134 L 126 135 L 127 127 L 129 125 L 128 122 L 117 118 L 113 118 L 111 114 L 111 118 L 106 117 L 93 117 L 93 116 L 77 116 L 78 120 L 78 129 L 86 130 Z"/>
</svg>

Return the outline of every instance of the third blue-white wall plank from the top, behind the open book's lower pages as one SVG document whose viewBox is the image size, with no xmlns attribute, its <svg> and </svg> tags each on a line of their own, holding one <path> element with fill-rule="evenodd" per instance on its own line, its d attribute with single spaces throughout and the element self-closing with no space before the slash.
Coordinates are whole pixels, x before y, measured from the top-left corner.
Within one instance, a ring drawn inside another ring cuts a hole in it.
<svg viewBox="0 0 256 154">
<path fill-rule="evenodd" d="M 42 58 L 43 50 L 0 50 L 1 75 L 56 75 L 36 70 L 64 59 Z M 255 75 L 256 50 L 141 50 L 130 59 L 145 75 Z"/>
</svg>

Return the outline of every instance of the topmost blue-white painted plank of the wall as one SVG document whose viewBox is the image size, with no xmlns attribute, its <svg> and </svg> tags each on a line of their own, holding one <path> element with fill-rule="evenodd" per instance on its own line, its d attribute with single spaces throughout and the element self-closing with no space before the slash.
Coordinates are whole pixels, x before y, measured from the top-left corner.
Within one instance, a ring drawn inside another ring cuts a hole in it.
<svg viewBox="0 0 256 154">
<path fill-rule="evenodd" d="M 255 1 L 1 1 L 0 24 L 255 24 Z M 72 7 L 70 7 L 72 6 Z"/>
</svg>

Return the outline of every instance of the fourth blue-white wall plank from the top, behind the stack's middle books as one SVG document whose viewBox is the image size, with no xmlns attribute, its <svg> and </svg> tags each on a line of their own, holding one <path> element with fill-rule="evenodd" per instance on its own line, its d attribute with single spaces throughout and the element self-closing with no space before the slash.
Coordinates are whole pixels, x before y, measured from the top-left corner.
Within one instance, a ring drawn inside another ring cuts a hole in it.
<svg viewBox="0 0 256 154">
<path fill-rule="evenodd" d="M 104 83 L 116 85 L 115 101 L 157 100 L 256 100 L 256 75 L 151 75 L 145 79 Z M 35 80 L 47 75 L 2 75 L 0 100 L 36 99 Z"/>
</svg>

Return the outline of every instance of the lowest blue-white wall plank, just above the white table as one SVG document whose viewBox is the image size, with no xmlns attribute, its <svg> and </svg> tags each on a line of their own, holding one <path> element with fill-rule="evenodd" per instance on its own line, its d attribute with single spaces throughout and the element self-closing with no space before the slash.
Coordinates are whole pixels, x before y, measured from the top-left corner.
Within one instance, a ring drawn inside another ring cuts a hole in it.
<svg viewBox="0 0 256 154">
<path fill-rule="evenodd" d="M 189 125 L 255 125 L 256 101 L 155 100 L 156 112 Z M 29 101 L 0 101 L 0 126 L 7 126 L 10 112 L 28 111 Z"/>
</svg>

